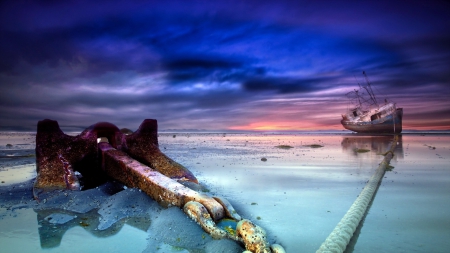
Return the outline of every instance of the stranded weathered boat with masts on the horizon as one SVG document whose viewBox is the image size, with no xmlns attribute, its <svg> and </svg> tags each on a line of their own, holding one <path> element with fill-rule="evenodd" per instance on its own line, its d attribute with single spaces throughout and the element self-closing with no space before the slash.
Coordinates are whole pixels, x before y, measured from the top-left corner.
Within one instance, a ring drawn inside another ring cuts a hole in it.
<svg viewBox="0 0 450 253">
<path fill-rule="evenodd" d="M 380 104 L 364 71 L 363 75 L 367 85 L 358 83 L 359 89 L 346 94 L 352 106 L 342 114 L 342 126 L 357 133 L 401 133 L 403 108 L 387 99 Z"/>
</svg>

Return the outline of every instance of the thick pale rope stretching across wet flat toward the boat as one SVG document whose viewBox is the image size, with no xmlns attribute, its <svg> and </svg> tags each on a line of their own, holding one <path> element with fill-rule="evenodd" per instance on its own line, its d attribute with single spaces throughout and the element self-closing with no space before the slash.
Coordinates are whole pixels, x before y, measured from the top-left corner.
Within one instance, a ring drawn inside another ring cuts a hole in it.
<svg viewBox="0 0 450 253">
<path fill-rule="evenodd" d="M 331 234 L 327 237 L 325 242 L 322 243 L 316 253 L 344 252 L 347 244 L 350 242 L 350 239 L 352 238 L 353 233 L 356 230 L 356 227 L 358 227 L 359 222 L 363 218 L 367 206 L 369 205 L 378 186 L 380 185 L 384 172 L 389 166 L 389 162 L 394 156 L 393 151 L 397 145 L 397 141 L 398 136 L 396 135 L 391 143 L 389 151 L 387 151 L 383 161 L 380 163 L 377 170 L 370 178 L 369 182 L 367 182 L 361 194 L 359 194 L 353 205 L 350 207 L 341 221 L 337 224 L 336 228 L 334 228 L 333 232 L 331 232 Z"/>
</svg>

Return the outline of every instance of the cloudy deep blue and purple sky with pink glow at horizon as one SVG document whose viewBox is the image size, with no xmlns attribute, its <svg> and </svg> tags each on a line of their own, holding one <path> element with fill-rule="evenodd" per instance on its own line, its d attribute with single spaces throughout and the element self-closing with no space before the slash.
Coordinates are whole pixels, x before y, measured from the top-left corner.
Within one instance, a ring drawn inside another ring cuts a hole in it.
<svg viewBox="0 0 450 253">
<path fill-rule="evenodd" d="M 1 1 L 0 130 L 342 130 L 366 81 L 450 129 L 449 1 Z"/>
</svg>

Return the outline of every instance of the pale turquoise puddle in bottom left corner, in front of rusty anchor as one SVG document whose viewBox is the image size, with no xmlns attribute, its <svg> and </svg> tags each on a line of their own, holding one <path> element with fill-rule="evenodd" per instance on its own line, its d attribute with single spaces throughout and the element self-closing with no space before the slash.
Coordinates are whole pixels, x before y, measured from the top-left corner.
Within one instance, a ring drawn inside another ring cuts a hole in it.
<svg viewBox="0 0 450 253">
<path fill-rule="evenodd" d="M 147 245 L 145 231 L 125 224 L 120 233 L 105 237 L 75 226 L 57 247 L 48 247 L 42 243 L 45 234 L 39 233 L 36 215 L 33 209 L 19 209 L 0 220 L 0 252 L 142 252 Z"/>
</svg>

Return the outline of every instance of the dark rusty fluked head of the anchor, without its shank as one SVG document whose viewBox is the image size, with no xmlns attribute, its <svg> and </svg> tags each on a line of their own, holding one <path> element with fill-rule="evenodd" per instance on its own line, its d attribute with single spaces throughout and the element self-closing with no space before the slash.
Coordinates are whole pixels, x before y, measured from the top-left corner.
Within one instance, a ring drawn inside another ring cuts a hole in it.
<svg viewBox="0 0 450 253">
<path fill-rule="evenodd" d="M 77 136 L 64 134 L 57 121 L 45 119 L 38 122 L 36 134 L 37 177 L 34 196 L 52 189 L 80 188 L 75 171 L 80 172 L 87 188 L 104 182 L 100 170 L 97 139 L 106 138 L 112 147 L 123 150 L 141 163 L 162 174 L 183 181 L 198 183 L 184 166 L 164 155 L 158 147 L 157 121 L 146 119 L 139 129 L 126 135 L 113 124 L 99 122 Z"/>
</svg>

